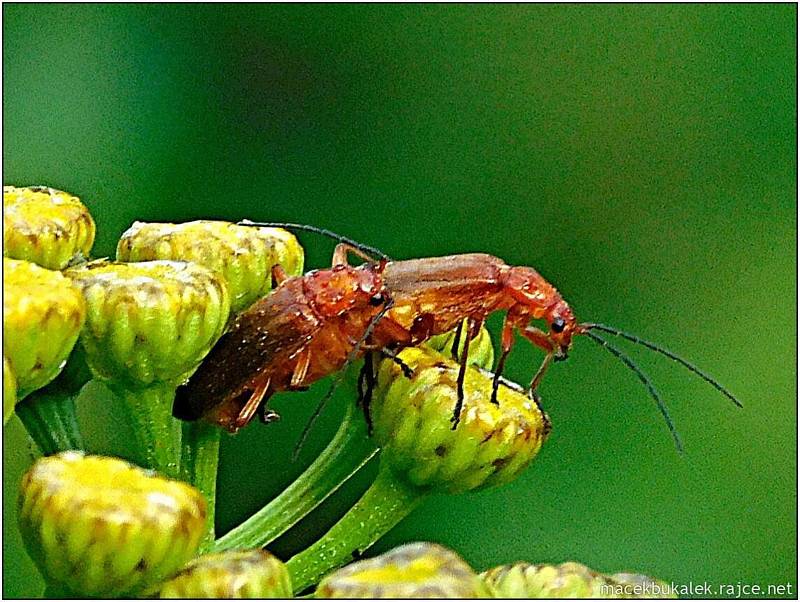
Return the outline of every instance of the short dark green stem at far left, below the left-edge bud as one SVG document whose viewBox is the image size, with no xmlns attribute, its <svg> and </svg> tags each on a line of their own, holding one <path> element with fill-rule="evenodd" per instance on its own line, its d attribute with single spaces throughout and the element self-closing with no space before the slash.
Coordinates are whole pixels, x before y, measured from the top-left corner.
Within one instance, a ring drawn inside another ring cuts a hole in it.
<svg viewBox="0 0 800 602">
<path fill-rule="evenodd" d="M 86 447 L 75 417 L 74 396 L 45 387 L 28 395 L 15 409 L 45 456 Z"/>
</svg>

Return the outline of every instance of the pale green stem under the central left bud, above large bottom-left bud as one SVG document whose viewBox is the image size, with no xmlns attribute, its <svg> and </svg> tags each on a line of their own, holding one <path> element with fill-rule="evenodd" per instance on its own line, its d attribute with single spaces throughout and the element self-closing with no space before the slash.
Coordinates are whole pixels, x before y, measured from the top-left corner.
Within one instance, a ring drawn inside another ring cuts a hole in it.
<svg viewBox="0 0 800 602">
<path fill-rule="evenodd" d="M 175 386 L 155 383 L 149 387 L 129 389 L 111 383 L 109 388 L 128 409 L 128 419 L 145 466 L 169 478 L 179 478 L 181 425 L 172 417 Z"/>
</svg>

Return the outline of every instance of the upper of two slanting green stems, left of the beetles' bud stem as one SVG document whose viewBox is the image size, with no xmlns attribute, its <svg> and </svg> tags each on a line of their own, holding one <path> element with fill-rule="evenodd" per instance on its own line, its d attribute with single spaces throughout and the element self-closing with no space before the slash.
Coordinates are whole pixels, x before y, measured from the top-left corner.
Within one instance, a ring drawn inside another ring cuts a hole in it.
<svg viewBox="0 0 800 602">
<path fill-rule="evenodd" d="M 355 404 L 348 404 L 339 430 L 314 463 L 278 497 L 218 539 L 214 551 L 266 546 L 364 466 L 378 450 L 366 435 L 364 421 L 354 416 L 355 411 Z"/>
</svg>

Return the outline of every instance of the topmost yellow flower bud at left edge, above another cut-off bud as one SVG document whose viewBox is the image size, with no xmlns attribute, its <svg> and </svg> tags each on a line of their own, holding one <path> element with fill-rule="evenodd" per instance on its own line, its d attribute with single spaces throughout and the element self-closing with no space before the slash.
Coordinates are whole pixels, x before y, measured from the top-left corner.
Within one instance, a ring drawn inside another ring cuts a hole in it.
<svg viewBox="0 0 800 602">
<path fill-rule="evenodd" d="M 46 186 L 3 187 L 3 255 L 51 270 L 89 255 L 94 220 L 78 197 Z"/>
</svg>

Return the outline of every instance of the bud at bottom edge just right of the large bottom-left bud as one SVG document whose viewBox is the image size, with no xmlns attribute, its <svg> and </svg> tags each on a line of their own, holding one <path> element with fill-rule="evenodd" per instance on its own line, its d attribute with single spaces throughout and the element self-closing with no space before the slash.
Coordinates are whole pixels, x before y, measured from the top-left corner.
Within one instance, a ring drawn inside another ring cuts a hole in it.
<svg viewBox="0 0 800 602">
<path fill-rule="evenodd" d="M 161 598 L 291 598 L 286 566 L 265 550 L 200 556 L 161 588 Z"/>
</svg>

